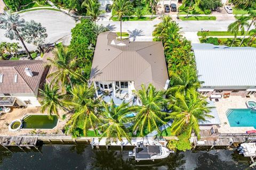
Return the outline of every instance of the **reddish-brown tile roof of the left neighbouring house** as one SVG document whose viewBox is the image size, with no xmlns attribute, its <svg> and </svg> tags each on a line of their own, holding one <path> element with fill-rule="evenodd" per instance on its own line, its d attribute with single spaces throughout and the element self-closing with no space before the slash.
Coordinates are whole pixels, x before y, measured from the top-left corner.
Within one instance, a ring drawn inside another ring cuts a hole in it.
<svg viewBox="0 0 256 170">
<path fill-rule="evenodd" d="M 5 94 L 32 94 L 37 91 L 44 72 L 43 61 L 0 61 L 0 74 L 3 75 L 3 82 L 0 83 L 0 93 Z M 33 77 L 25 73 L 28 67 Z M 17 74 L 17 83 L 14 77 Z"/>
</svg>

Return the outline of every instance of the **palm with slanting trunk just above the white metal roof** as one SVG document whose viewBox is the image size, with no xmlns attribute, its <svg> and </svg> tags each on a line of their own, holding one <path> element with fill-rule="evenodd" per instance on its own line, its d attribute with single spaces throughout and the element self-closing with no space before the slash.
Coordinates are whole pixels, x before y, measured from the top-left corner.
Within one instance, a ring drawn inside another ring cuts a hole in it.
<svg viewBox="0 0 256 170">
<path fill-rule="evenodd" d="M 233 43 L 231 44 L 231 47 L 233 46 L 235 40 L 236 40 L 236 37 L 237 37 L 237 34 L 239 31 L 241 31 L 241 34 L 243 35 L 244 34 L 244 26 L 249 26 L 249 23 L 248 21 L 250 20 L 250 16 L 235 16 L 236 18 L 236 21 L 229 24 L 228 25 L 228 31 L 231 32 L 231 33 L 234 33 L 234 39 L 233 39 Z"/>
</svg>

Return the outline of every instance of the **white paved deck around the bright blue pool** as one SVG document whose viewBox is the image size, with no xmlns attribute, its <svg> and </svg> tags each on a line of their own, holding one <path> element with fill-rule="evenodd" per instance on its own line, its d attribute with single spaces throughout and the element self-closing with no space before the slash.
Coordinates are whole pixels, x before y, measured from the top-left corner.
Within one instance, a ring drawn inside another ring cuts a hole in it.
<svg viewBox="0 0 256 170">
<path fill-rule="evenodd" d="M 220 133 L 246 133 L 248 130 L 254 130 L 253 127 L 230 127 L 226 112 L 228 109 L 233 108 L 247 108 L 246 101 L 247 100 L 254 100 L 256 101 L 255 97 L 245 98 L 241 96 L 230 96 L 229 98 L 221 98 L 218 102 L 214 101 L 215 107 L 219 114 L 220 118 L 220 128 L 218 131 Z"/>
</svg>

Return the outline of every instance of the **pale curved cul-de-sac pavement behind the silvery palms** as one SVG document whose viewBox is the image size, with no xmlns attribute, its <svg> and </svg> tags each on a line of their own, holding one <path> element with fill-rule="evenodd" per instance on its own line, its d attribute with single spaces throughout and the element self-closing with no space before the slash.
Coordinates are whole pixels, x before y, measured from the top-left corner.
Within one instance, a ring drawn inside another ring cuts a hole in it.
<svg viewBox="0 0 256 170">
<path fill-rule="evenodd" d="M 1 0 L 0 0 L 1 1 Z M 51 10 L 37 10 L 29 11 L 20 14 L 21 18 L 26 21 L 35 20 L 40 22 L 43 27 L 46 27 L 48 37 L 46 38 L 46 44 L 52 44 L 71 34 L 70 30 L 75 27 L 76 22 L 69 15 Z M 5 30 L 0 29 L 0 42 L 11 42 L 9 38 L 4 36 Z M 14 40 L 12 41 L 14 42 Z M 20 43 L 21 44 L 21 43 Z M 26 44 L 29 50 L 35 50 L 36 47 L 31 44 Z M 22 45 L 21 45 L 22 47 Z M 23 47 L 22 47 L 23 49 Z"/>
</svg>

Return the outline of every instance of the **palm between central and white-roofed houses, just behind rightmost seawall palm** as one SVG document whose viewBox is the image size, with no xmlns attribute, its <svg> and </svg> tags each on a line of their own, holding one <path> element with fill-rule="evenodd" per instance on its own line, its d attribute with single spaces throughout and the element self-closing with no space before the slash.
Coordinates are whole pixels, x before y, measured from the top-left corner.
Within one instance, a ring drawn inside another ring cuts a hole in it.
<svg viewBox="0 0 256 170">
<path fill-rule="evenodd" d="M 200 87 L 201 82 L 197 80 L 197 73 L 193 66 L 185 66 L 181 73 L 172 73 L 171 80 L 173 80 L 172 87 L 168 92 L 184 92 L 189 88 L 197 89 Z"/>
</svg>

